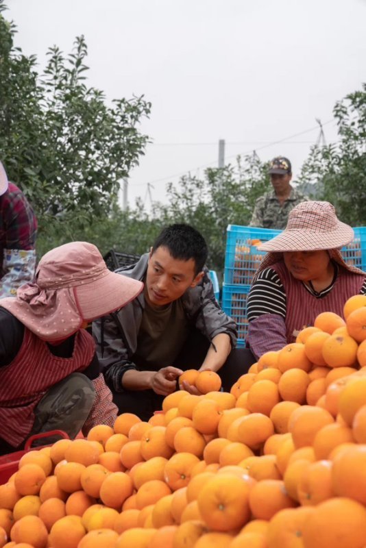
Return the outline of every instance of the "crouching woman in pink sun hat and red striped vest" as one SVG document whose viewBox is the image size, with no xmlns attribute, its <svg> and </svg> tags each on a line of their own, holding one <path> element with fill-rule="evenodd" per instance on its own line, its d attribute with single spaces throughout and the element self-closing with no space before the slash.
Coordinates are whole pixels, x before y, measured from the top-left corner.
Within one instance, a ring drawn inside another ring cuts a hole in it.
<svg viewBox="0 0 366 548">
<path fill-rule="evenodd" d="M 117 408 L 83 327 L 132 301 L 143 283 L 107 269 L 97 247 L 72 242 L 43 256 L 34 283 L 0 301 L 0 454 L 30 434 L 112 425 Z"/>
</svg>

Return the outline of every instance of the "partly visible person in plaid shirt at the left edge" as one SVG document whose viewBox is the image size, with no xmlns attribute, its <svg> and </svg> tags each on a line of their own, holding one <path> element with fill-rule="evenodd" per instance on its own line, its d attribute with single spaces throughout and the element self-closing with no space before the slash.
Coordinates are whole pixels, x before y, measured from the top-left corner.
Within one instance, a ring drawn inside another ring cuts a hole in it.
<svg viewBox="0 0 366 548">
<path fill-rule="evenodd" d="M 36 266 L 37 220 L 23 192 L 0 162 L 0 299 L 31 282 Z"/>
</svg>

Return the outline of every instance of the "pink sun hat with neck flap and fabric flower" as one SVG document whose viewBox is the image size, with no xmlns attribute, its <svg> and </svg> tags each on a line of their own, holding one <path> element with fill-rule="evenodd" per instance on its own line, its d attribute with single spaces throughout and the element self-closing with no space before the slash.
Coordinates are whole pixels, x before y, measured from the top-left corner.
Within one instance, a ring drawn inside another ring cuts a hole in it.
<svg viewBox="0 0 366 548">
<path fill-rule="evenodd" d="M 88 242 L 51 249 L 38 263 L 36 279 L 16 297 L 1 299 L 30 331 L 44 340 L 67 338 L 91 321 L 132 301 L 143 282 L 110 272 L 99 250 Z"/>
</svg>

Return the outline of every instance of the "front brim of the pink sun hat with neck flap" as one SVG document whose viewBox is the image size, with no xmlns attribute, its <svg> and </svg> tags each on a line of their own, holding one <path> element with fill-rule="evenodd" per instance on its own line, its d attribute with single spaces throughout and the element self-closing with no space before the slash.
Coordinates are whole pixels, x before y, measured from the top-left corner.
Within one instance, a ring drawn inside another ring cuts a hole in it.
<svg viewBox="0 0 366 548">
<path fill-rule="evenodd" d="M 107 271 L 103 277 L 75 287 L 77 306 L 86 321 L 92 321 L 119 310 L 143 290 L 143 282 Z"/>
</svg>

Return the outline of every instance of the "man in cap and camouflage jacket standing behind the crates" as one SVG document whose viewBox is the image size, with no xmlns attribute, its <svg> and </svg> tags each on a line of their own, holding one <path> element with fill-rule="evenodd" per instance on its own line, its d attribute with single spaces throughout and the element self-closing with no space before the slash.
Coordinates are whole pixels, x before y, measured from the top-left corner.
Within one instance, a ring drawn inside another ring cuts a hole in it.
<svg viewBox="0 0 366 548">
<path fill-rule="evenodd" d="M 286 228 L 289 212 L 308 198 L 291 186 L 292 171 L 288 158 L 273 158 L 268 173 L 273 190 L 256 200 L 249 226 L 283 230 Z"/>
</svg>

